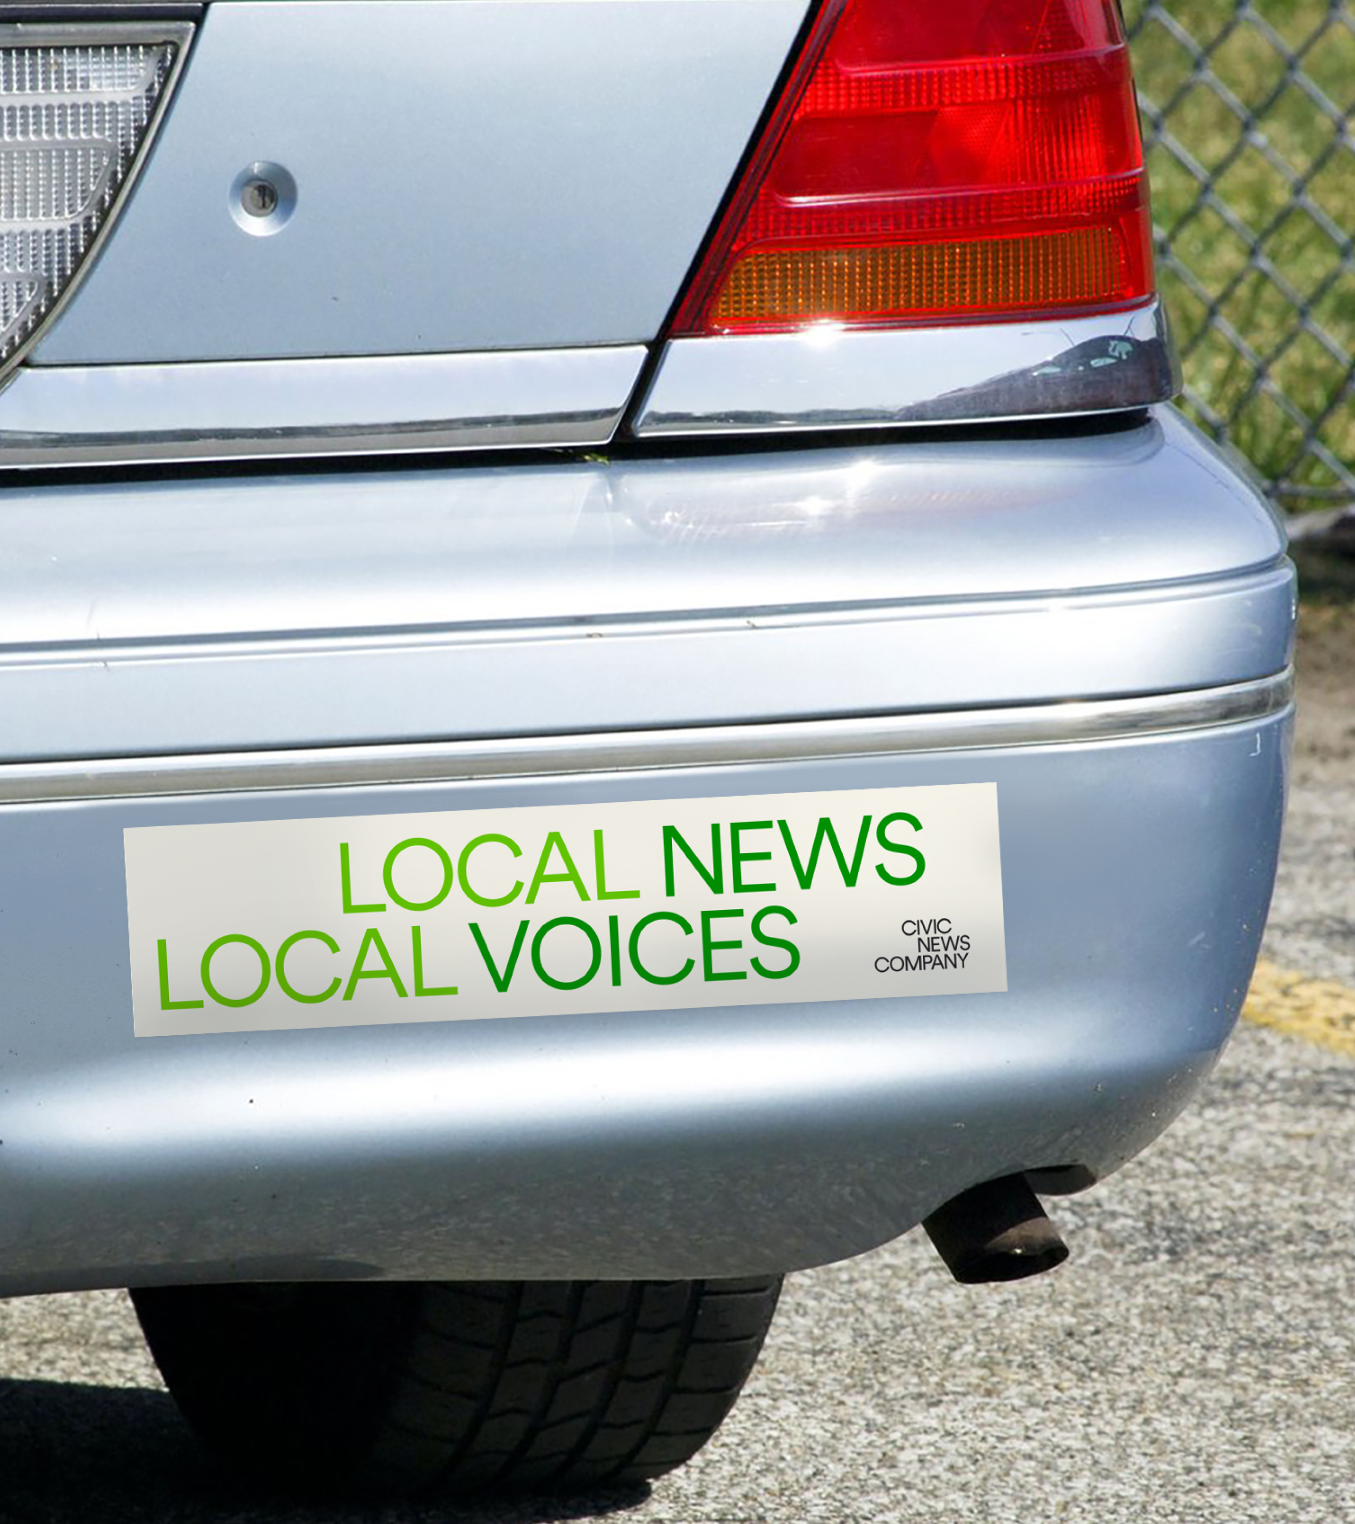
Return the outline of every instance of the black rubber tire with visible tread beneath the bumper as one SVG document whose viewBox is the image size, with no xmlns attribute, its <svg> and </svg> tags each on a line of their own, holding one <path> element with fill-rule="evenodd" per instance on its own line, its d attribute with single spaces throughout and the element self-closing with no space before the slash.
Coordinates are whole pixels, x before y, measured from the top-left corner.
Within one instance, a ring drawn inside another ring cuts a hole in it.
<svg viewBox="0 0 1355 1524">
<path fill-rule="evenodd" d="M 719 1428 L 780 1277 L 133 1291 L 200 1439 L 309 1492 L 581 1490 Z"/>
</svg>

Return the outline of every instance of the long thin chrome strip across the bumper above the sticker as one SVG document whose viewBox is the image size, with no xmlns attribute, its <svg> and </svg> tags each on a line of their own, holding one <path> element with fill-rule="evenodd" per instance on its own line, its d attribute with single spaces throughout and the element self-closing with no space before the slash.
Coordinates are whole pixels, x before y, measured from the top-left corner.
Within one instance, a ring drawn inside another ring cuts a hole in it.
<svg viewBox="0 0 1355 1524">
<path fill-rule="evenodd" d="M 1286 709 L 1293 698 L 1294 675 L 1293 669 L 1286 669 L 1251 683 L 1183 693 L 977 709 L 966 713 L 11 764 L 0 767 L 0 803 L 439 783 L 1126 741 L 1265 719 Z"/>
</svg>

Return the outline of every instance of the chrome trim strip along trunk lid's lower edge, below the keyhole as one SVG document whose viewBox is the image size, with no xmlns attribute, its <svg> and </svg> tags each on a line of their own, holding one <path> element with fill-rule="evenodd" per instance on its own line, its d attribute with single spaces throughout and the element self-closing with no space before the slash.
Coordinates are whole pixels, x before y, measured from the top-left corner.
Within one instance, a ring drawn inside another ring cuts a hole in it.
<svg viewBox="0 0 1355 1524">
<path fill-rule="evenodd" d="M 0 468 L 605 445 L 645 354 L 30 366 L 0 395 Z"/>
</svg>

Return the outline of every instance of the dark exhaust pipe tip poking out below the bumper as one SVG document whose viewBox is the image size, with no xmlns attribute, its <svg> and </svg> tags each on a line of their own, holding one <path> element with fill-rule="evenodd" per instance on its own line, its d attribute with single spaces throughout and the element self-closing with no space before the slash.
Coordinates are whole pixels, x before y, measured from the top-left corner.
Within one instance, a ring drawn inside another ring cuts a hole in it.
<svg viewBox="0 0 1355 1524">
<path fill-rule="evenodd" d="M 962 1190 L 924 1218 L 922 1227 L 963 1286 L 1024 1280 L 1068 1257 L 1068 1245 L 1024 1175 L 1004 1175 Z"/>
</svg>

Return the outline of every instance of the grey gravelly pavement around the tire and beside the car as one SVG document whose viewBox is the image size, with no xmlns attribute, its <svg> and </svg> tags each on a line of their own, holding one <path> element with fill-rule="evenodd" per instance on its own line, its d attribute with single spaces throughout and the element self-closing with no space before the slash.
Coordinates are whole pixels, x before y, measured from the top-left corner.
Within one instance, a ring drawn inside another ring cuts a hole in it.
<svg viewBox="0 0 1355 1524">
<path fill-rule="evenodd" d="M 1355 581 L 1355 578 L 1352 578 Z M 1268 956 L 1355 983 L 1355 619 L 1305 611 Z M 1166 1140 L 1058 1204 L 1072 1263 L 966 1289 L 910 1234 L 793 1277 L 735 1416 L 652 1490 L 468 1524 L 1338 1524 L 1355 1516 L 1355 1061 L 1247 1027 Z M 250 1498 L 117 1292 L 0 1305 L 6 1524 L 431 1524 Z"/>
</svg>

